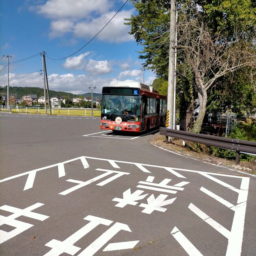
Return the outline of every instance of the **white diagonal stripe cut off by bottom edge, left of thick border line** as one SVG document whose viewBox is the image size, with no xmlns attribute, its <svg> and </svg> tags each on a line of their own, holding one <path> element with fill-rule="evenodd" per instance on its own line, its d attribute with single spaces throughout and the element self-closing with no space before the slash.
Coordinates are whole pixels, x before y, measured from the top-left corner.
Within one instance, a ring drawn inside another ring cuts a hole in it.
<svg viewBox="0 0 256 256">
<path fill-rule="evenodd" d="M 182 246 L 182 248 L 186 250 L 189 256 L 203 256 L 201 252 L 199 252 L 197 248 L 187 239 L 187 237 L 184 236 L 180 230 L 178 230 L 178 228 L 174 227 L 171 234 Z"/>
</svg>

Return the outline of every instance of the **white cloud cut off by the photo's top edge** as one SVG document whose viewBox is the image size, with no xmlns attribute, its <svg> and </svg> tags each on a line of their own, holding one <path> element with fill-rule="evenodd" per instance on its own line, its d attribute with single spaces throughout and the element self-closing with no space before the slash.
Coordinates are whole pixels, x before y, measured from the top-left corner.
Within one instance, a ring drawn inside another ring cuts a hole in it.
<svg viewBox="0 0 256 256">
<path fill-rule="evenodd" d="M 109 0 L 48 0 L 37 6 L 37 13 L 50 19 L 82 19 L 94 13 L 106 13 L 112 6 Z"/>
</svg>

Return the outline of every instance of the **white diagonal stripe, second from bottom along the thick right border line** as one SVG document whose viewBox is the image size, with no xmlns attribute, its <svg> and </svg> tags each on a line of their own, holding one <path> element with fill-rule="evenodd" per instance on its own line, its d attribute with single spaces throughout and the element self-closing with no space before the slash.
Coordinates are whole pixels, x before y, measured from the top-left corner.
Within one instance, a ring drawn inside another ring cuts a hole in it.
<svg viewBox="0 0 256 256">
<path fill-rule="evenodd" d="M 189 204 L 188 208 L 193 211 L 199 218 L 201 218 L 203 221 L 208 223 L 210 226 L 212 226 L 215 230 L 217 230 L 219 233 L 221 233 L 224 237 L 228 238 L 230 237 L 230 231 L 221 226 L 221 224 L 217 223 L 217 221 L 214 221 L 209 217 L 206 213 L 201 211 L 197 206 L 194 204 Z"/>
</svg>

